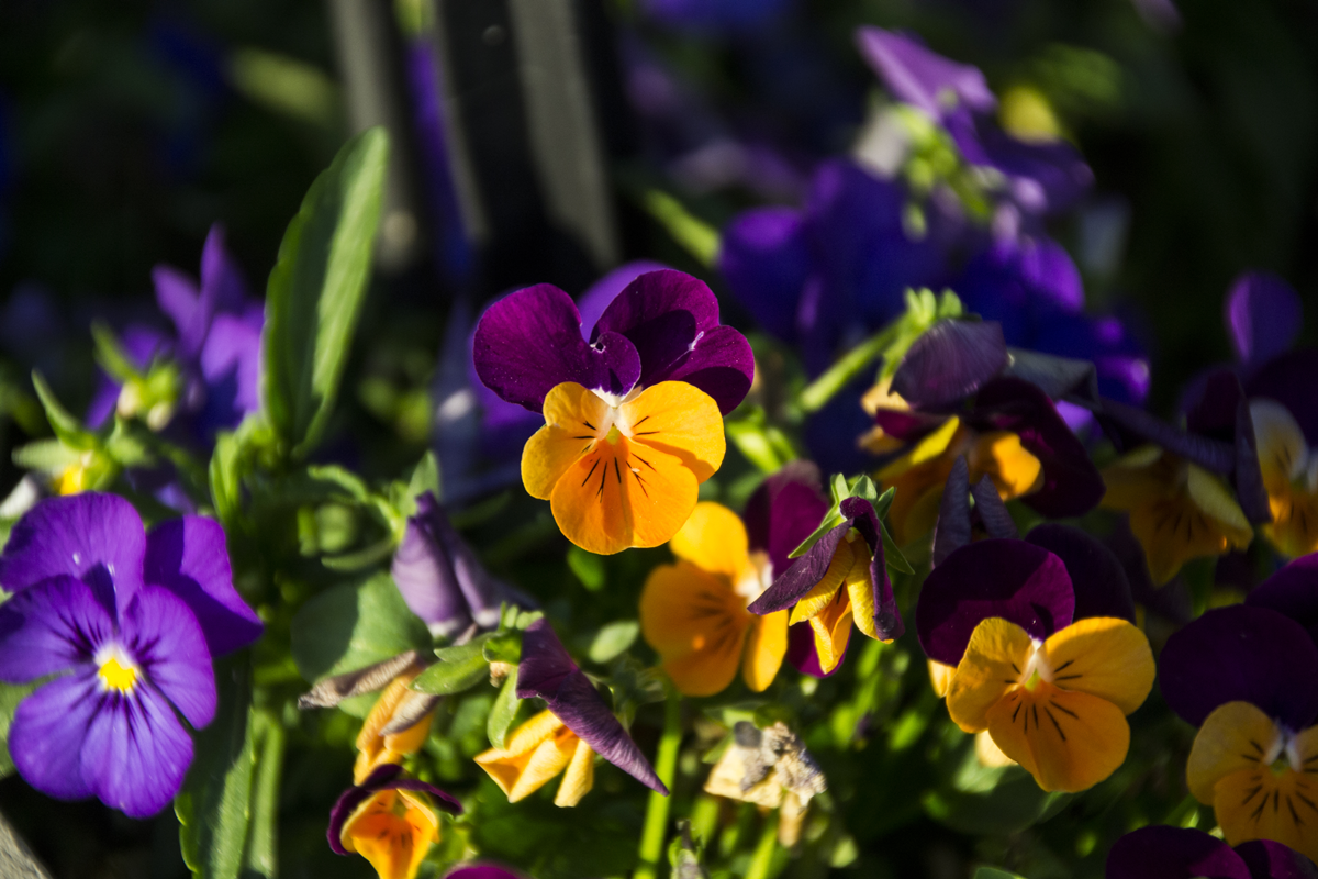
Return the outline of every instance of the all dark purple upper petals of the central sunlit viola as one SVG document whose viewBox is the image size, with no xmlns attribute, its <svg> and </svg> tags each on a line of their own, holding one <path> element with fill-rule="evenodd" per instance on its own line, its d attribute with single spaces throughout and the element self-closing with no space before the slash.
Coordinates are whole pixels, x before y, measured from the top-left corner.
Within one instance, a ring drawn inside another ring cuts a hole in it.
<svg viewBox="0 0 1318 879">
<path fill-rule="evenodd" d="M 486 387 L 532 411 L 563 382 L 621 399 L 638 385 L 683 381 L 726 414 L 754 378 L 750 344 L 718 323 L 714 294 L 672 270 L 627 285 L 596 322 L 589 341 L 565 293 L 552 285 L 518 290 L 481 318 L 473 358 Z"/>
</svg>

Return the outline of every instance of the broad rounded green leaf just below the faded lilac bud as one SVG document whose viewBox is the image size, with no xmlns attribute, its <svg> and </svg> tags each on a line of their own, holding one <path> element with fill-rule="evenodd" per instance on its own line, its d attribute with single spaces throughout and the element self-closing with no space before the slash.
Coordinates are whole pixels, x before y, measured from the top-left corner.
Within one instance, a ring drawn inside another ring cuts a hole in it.
<svg viewBox="0 0 1318 879">
<path fill-rule="evenodd" d="M 308 681 L 430 647 L 430 630 L 387 572 L 327 589 L 293 618 L 293 662 Z"/>
</svg>

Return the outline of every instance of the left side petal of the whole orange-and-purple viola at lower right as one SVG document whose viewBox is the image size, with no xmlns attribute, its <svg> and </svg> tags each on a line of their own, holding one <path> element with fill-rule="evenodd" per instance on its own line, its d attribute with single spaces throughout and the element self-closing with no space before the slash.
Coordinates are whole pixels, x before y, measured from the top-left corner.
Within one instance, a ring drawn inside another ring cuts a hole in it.
<svg viewBox="0 0 1318 879">
<path fill-rule="evenodd" d="M 1016 687 L 1033 647 L 1029 633 L 1014 622 L 994 617 L 975 626 L 948 687 L 948 713 L 957 726 L 967 733 L 988 729 L 990 709 Z"/>
</svg>

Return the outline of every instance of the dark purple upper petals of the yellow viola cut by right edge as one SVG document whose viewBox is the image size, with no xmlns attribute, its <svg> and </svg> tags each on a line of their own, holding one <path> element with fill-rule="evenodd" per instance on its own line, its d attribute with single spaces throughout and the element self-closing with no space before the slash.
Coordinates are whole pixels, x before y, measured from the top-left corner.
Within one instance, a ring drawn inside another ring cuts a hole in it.
<svg viewBox="0 0 1318 879">
<path fill-rule="evenodd" d="M 1162 697 L 1193 726 L 1219 705 L 1252 702 L 1290 730 L 1318 716 L 1318 647 L 1276 610 L 1209 610 L 1166 640 L 1159 662 Z"/>
</svg>

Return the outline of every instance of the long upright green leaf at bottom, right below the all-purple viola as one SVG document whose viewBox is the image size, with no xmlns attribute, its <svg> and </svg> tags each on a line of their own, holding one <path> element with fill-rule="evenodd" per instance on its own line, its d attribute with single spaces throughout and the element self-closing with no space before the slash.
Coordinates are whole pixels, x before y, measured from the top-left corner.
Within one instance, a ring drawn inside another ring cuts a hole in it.
<svg viewBox="0 0 1318 879">
<path fill-rule="evenodd" d="M 195 756 L 174 797 L 183 862 L 196 879 L 237 879 L 246 847 L 256 749 L 246 651 L 215 662 L 215 720 L 192 734 Z"/>
</svg>

